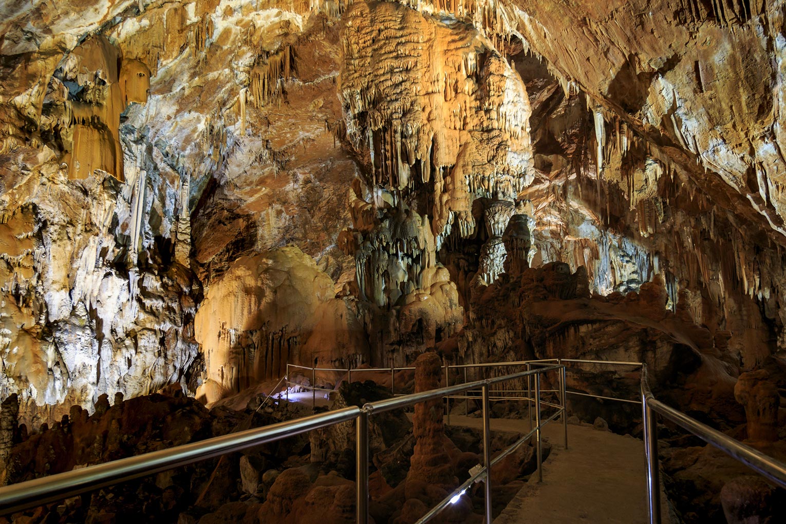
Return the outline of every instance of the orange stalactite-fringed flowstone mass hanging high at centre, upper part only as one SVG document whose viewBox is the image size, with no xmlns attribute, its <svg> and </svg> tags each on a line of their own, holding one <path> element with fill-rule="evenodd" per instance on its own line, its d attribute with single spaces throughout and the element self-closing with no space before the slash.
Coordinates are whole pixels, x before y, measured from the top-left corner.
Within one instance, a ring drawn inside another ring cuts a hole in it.
<svg viewBox="0 0 786 524">
<path fill-rule="evenodd" d="M 339 95 L 373 185 L 430 192 L 417 211 L 438 249 L 454 229 L 474 235 L 472 200 L 513 199 L 533 178 L 520 76 L 471 26 L 387 3 L 353 4 L 344 21 Z"/>
</svg>

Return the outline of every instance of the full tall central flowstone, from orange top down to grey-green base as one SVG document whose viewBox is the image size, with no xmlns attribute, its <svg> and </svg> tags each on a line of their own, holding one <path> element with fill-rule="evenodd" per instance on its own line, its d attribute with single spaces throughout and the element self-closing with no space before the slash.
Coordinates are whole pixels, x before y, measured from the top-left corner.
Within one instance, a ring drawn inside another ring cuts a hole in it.
<svg viewBox="0 0 786 524">
<path fill-rule="evenodd" d="M 468 24 L 357 2 L 343 15 L 342 38 L 347 141 L 370 171 L 354 185 L 343 243 L 355 258 L 358 299 L 389 319 L 373 321 L 387 339 L 377 341 L 384 363 L 461 328 L 439 251 L 476 236 L 476 199 L 512 206 L 531 181 L 529 101 L 516 71 Z M 433 305 L 413 306 L 423 301 Z M 422 335 L 407 336 L 407 317 L 422 318 Z"/>
</svg>

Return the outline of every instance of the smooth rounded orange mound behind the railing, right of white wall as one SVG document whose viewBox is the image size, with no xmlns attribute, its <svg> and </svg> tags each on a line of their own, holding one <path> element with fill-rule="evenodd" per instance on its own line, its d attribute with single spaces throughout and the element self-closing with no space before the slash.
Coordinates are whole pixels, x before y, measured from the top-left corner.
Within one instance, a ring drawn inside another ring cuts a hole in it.
<svg viewBox="0 0 786 524">
<path fill-rule="evenodd" d="M 216 279 L 195 319 L 206 375 L 198 396 L 216 401 L 287 363 L 346 367 L 368 358 L 354 306 L 297 247 L 238 259 Z"/>
</svg>

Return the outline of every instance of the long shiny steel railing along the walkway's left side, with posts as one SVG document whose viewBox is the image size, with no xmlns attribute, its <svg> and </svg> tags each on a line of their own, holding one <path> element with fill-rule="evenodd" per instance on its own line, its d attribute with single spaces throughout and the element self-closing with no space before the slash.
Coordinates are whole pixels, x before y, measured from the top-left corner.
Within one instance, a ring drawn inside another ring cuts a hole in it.
<svg viewBox="0 0 786 524">
<path fill-rule="evenodd" d="M 329 412 L 319 413 L 287 422 L 276 423 L 270 426 L 259 427 L 237 433 L 222 435 L 221 437 L 209 438 L 201 442 L 179 445 L 170 449 L 162 449 L 152 453 L 145 453 L 139 456 L 131 456 L 126 459 L 113 460 L 105 464 L 84 467 L 75 471 L 67 471 L 57 475 L 36 478 L 35 480 L 20 482 L 12 486 L 0 488 L 0 515 L 6 515 L 28 508 L 34 508 L 42 504 L 47 504 L 55 500 L 85 493 L 92 489 L 111 486 L 118 482 L 124 482 L 134 478 L 152 475 L 160 471 L 166 471 L 173 467 L 193 464 L 199 460 L 206 460 L 226 453 L 232 453 L 247 449 L 253 446 L 274 442 L 296 434 L 305 433 L 328 427 L 336 423 L 356 422 L 356 462 L 357 462 L 357 515 L 359 524 L 369 522 L 369 416 L 375 412 L 385 412 L 391 409 L 406 408 L 419 402 L 443 398 L 447 395 L 461 394 L 468 390 L 480 388 L 483 399 L 483 467 L 475 475 L 459 486 L 453 493 L 450 493 L 445 500 L 432 508 L 418 521 L 424 524 L 428 519 L 437 515 L 439 511 L 450 504 L 452 497 L 460 494 L 463 489 L 467 489 L 472 482 L 484 479 L 485 497 L 484 512 L 486 522 L 491 522 L 491 483 L 490 470 L 494 464 L 502 460 L 506 455 L 512 453 L 518 446 L 527 442 L 533 435 L 535 437 L 535 447 L 538 457 L 538 479 L 542 480 L 542 435 L 541 429 L 557 416 L 562 417 L 565 430 L 565 446 L 567 447 L 567 415 L 564 404 L 545 420 L 541 420 L 541 401 L 540 401 L 540 379 L 546 372 L 558 371 L 564 377 L 564 366 L 549 365 L 538 367 L 524 372 L 512 373 L 507 376 L 494 377 L 492 379 L 476 380 L 471 383 L 462 383 L 450 387 L 443 387 L 436 390 L 422 391 L 419 393 L 408 394 L 402 397 L 389 398 L 382 401 L 369 402 L 362 408 L 348 407 L 336 409 Z M 494 384 L 502 383 L 513 379 L 534 378 L 534 403 L 535 403 L 535 427 L 529 434 L 520 438 L 517 442 L 510 445 L 494 460 L 491 460 L 490 448 L 490 387 Z M 560 381 L 563 386 L 560 398 L 564 402 L 564 379 Z M 274 388 L 275 389 L 275 388 Z"/>
</svg>

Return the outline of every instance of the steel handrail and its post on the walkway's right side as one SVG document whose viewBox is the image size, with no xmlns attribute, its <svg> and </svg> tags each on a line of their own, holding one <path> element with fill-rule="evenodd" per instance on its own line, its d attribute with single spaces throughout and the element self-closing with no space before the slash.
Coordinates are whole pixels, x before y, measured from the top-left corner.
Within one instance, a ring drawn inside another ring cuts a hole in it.
<svg viewBox="0 0 786 524">
<path fill-rule="evenodd" d="M 707 426 L 707 424 L 700 423 L 680 410 L 656 399 L 649 387 L 646 365 L 643 366 L 641 372 L 641 406 L 647 460 L 647 500 L 650 524 L 660 524 L 661 522 L 656 413 L 690 431 L 704 442 L 714 445 L 733 459 L 769 478 L 778 486 L 786 488 L 786 464 Z"/>
</svg>

